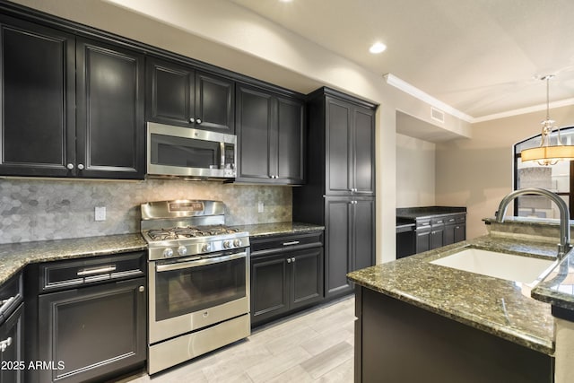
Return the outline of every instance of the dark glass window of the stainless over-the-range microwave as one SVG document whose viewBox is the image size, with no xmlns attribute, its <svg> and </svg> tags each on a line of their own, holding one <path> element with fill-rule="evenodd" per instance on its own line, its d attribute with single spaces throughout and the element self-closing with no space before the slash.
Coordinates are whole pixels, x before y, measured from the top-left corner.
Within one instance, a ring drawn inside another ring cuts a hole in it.
<svg viewBox="0 0 574 383">
<path fill-rule="evenodd" d="M 152 135 L 151 162 L 164 166 L 217 169 L 220 144 L 169 135 Z"/>
</svg>

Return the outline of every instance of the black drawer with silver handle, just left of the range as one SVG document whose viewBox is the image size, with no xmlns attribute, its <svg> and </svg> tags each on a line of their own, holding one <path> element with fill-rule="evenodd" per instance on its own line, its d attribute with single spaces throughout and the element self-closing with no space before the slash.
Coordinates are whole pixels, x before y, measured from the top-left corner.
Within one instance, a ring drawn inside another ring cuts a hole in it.
<svg viewBox="0 0 574 383">
<path fill-rule="evenodd" d="M 133 278 L 145 274 L 145 252 L 49 262 L 39 265 L 40 291 Z"/>
</svg>

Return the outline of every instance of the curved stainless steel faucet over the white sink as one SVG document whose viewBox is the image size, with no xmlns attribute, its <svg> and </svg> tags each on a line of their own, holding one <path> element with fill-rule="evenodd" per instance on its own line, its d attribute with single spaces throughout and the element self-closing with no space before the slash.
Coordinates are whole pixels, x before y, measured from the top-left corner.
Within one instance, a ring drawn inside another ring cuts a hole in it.
<svg viewBox="0 0 574 383">
<path fill-rule="evenodd" d="M 506 209 L 514 198 L 517 196 L 532 194 L 537 196 L 546 196 L 558 206 L 558 210 L 560 211 L 560 244 L 558 245 L 558 258 L 561 259 L 570 251 L 570 248 L 572 248 L 572 245 L 570 245 L 570 212 L 564 200 L 556 193 L 552 193 L 551 191 L 540 187 L 526 187 L 515 190 L 500 201 L 499 210 L 495 213 L 496 222 L 504 222 Z"/>
</svg>

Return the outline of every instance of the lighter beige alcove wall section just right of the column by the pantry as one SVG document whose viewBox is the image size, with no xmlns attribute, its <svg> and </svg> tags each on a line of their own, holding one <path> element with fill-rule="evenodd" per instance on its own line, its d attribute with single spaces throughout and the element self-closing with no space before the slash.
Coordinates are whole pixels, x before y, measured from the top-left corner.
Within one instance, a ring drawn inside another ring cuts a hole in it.
<svg viewBox="0 0 574 383">
<path fill-rule="evenodd" d="M 396 207 L 435 205 L 436 144 L 396 135 Z"/>
</svg>

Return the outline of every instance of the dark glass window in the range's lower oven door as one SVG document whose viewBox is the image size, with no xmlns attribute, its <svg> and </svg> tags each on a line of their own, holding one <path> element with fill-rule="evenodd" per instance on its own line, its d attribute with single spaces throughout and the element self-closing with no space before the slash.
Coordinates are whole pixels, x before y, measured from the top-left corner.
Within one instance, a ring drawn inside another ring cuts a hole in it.
<svg viewBox="0 0 574 383">
<path fill-rule="evenodd" d="M 246 258 L 158 272 L 156 320 L 209 309 L 246 296 Z"/>
</svg>

